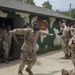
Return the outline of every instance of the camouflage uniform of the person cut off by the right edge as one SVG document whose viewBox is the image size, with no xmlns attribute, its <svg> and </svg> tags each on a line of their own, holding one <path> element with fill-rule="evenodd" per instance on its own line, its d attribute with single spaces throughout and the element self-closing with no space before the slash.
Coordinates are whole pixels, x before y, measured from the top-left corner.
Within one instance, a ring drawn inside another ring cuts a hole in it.
<svg viewBox="0 0 75 75">
<path fill-rule="evenodd" d="M 74 40 L 75 40 L 75 34 L 69 40 L 69 46 L 71 47 L 71 54 L 72 54 L 71 60 L 72 60 L 74 67 L 75 67 L 75 43 L 73 43 Z"/>
</svg>

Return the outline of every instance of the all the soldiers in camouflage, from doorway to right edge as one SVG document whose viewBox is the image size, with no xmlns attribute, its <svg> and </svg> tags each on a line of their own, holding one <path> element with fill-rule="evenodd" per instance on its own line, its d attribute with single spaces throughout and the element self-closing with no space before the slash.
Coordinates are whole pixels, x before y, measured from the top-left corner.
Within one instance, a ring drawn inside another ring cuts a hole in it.
<svg viewBox="0 0 75 75">
<path fill-rule="evenodd" d="M 71 23 L 66 26 L 65 23 L 62 23 L 61 26 L 62 33 L 59 33 L 59 35 L 62 34 L 62 50 L 65 55 L 63 58 L 71 58 L 75 67 L 75 25 Z M 2 55 L 6 63 L 8 63 L 13 33 L 24 35 L 24 43 L 21 47 L 21 62 L 18 69 L 18 75 L 23 75 L 22 71 L 25 65 L 28 65 L 26 68 L 28 74 L 33 75 L 31 69 L 36 62 L 37 39 L 41 35 L 53 36 L 53 34 L 41 32 L 37 21 L 33 22 L 31 28 L 29 28 L 29 23 L 25 23 L 23 28 L 16 28 L 13 30 L 11 30 L 10 25 L 6 26 L 5 23 L 2 23 L 0 25 L 0 50 L 3 48 Z M 75 75 L 75 69 L 73 69 L 71 72 L 63 69 L 62 75 Z"/>
</svg>

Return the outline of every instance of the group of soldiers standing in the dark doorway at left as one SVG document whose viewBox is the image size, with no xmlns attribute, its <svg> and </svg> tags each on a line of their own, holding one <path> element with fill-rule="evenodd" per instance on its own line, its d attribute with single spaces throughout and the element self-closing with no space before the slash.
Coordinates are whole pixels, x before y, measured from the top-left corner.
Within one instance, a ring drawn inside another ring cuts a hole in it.
<svg viewBox="0 0 75 75">
<path fill-rule="evenodd" d="M 2 22 L 0 24 L 0 55 L 8 63 L 9 51 L 11 47 L 12 34 L 9 33 L 11 26 Z"/>
</svg>

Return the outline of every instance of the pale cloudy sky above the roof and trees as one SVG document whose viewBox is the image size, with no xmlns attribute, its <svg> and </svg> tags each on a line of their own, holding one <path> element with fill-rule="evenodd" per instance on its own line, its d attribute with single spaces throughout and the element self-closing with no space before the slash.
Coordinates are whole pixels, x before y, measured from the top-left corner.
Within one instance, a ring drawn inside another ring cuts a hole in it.
<svg viewBox="0 0 75 75">
<path fill-rule="evenodd" d="M 60 10 L 60 11 L 67 11 L 70 10 L 70 3 L 71 8 L 75 8 L 75 0 L 34 0 L 36 6 L 42 7 L 44 1 L 49 1 L 52 5 L 53 10 Z"/>
</svg>

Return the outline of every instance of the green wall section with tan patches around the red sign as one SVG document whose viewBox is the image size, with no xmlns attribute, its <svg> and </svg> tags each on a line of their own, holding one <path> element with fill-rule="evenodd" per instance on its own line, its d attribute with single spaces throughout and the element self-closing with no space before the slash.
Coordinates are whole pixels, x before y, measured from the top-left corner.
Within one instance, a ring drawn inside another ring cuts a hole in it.
<svg viewBox="0 0 75 75">
<path fill-rule="evenodd" d="M 30 23 L 37 20 L 39 21 L 46 21 L 47 22 L 47 29 L 41 30 L 46 33 L 53 33 L 54 36 L 41 36 L 39 37 L 37 44 L 39 45 L 39 48 L 45 48 L 49 46 L 58 46 L 61 45 L 61 38 L 58 36 L 58 33 L 60 31 L 60 26 L 62 19 L 58 19 L 55 17 L 46 17 L 46 16 L 36 16 L 36 15 L 30 15 Z"/>
</svg>

